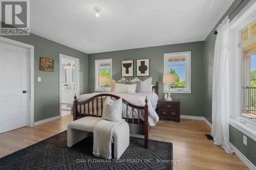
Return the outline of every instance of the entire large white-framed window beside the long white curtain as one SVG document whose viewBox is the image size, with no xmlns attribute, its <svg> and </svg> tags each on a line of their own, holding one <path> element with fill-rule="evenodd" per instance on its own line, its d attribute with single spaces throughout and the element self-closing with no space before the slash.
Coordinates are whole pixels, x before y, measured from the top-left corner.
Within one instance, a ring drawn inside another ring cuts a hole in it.
<svg viewBox="0 0 256 170">
<path fill-rule="evenodd" d="M 244 7 L 229 23 L 229 124 L 256 140 L 256 124 L 253 117 L 253 93 L 251 87 L 255 60 L 256 3 Z M 255 41 L 254 41 L 255 43 Z M 247 88 L 246 88 L 247 87 Z M 251 116 L 251 118 L 250 118 Z"/>
</svg>

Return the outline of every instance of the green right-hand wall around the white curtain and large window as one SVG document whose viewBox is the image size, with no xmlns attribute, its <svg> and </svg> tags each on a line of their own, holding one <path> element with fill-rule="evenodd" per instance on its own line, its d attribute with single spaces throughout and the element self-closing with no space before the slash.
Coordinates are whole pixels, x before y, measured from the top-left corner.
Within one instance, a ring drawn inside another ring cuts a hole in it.
<svg viewBox="0 0 256 170">
<path fill-rule="evenodd" d="M 214 29 L 210 32 L 204 41 L 204 79 L 205 79 L 205 93 L 204 93 L 204 117 L 211 123 L 211 102 L 212 102 L 212 72 L 214 66 L 214 50 L 216 36 L 214 31 L 219 26 L 221 21 L 229 15 L 242 0 L 236 0 L 229 7 L 227 12 L 222 16 Z M 245 0 L 243 4 L 230 16 L 230 21 L 245 7 L 249 0 Z M 243 134 L 236 128 L 229 126 L 229 140 L 230 142 L 248 158 L 256 166 L 256 142 L 247 137 L 247 146 L 243 144 Z M 246 135 L 245 135 L 246 136 Z"/>
</svg>

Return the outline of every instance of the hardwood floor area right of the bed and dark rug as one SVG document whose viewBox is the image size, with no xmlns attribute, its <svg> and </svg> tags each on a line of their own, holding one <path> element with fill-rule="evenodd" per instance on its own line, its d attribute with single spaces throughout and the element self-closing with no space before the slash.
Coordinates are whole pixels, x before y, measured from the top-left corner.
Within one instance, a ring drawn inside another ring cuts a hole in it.
<svg viewBox="0 0 256 170">
<path fill-rule="evenodd" d="M 151 128 L 150 139 L 173 143 L 174 159 L 180 162 L 174 169 L 248 169 L 235 154 L 227 154 L 204 134 L 210 134 L 210 128 L 203 120 L 164 120 Z"/>
</svg>

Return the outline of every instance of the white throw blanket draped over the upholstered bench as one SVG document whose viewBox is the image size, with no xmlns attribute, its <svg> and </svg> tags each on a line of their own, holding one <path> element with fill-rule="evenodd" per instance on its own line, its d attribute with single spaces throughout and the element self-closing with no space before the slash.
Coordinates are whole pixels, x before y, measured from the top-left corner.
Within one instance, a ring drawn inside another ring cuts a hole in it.
<svg viewBox="0 0 256 170">
<path fill-rule="evenodd" d="M 105 159 L 111 159 L 112 131 L 119 123 L 109 120 L 101 120 L 93 132 L 93 155 Z"/>
</svg>

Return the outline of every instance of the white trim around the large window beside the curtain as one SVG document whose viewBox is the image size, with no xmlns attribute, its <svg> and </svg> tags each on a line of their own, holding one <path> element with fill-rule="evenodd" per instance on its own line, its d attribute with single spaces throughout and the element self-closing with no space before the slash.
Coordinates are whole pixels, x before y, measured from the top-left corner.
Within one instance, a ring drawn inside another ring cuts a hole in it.
<svg viewBox="0 0 256 170">
<path fill-rule="evenodd" d="M 241 105 L 241 94 L 242 94 L 242 51 L 241 51 L 241 31 L 248 25 L 255 17 L 256 11 L 256 0 L 250 1 L 241 12 L 230 22 L 229 24 L 229 56 L 232 56 L 234 70 L 232 74 L 234 75 L 231 81 L 233 81 L 234 86 L 231 87 L 233 92 L 233 107 L 229 124 L 234 128 L 238 129 L 242 133 L 249 136 L 251 139 L 256 141 L 256 123 L 251 119 L 242 117 L 242 105 Z M 231 100 L 231 99 L 230 99 Z M 236 107 L 237 106 L 237 107 Z"/>
</svg>

